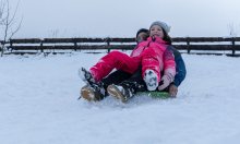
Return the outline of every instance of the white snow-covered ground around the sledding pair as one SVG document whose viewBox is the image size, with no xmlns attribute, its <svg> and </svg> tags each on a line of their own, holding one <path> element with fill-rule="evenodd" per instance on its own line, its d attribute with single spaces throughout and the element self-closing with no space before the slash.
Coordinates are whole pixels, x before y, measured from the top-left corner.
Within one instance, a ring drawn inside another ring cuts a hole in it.
<svg viewBox="0 0 240 144">
<path fill-rule="evenodd" d="M 188 73 L 175 99 L 76 100 L 77 69 L 104 55 L 0 58 L 0 143 L 240 143 L 240 58 L 182 55 Z"/>
</svg>

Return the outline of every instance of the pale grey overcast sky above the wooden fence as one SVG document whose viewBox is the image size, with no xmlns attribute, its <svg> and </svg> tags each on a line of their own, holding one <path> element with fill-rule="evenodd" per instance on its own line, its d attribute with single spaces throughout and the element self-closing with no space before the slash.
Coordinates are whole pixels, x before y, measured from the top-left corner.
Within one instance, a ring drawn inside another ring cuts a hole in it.
<svg viewBox="0 0 240 144">
<path fill-rule="evenodd" d="M 171 37 L 223 37 L 232 22 L 240 28 L 240 0 L 20 0 L 21 15 L 14 38 L 135 37 L 154 21 Z"/>
</svg>

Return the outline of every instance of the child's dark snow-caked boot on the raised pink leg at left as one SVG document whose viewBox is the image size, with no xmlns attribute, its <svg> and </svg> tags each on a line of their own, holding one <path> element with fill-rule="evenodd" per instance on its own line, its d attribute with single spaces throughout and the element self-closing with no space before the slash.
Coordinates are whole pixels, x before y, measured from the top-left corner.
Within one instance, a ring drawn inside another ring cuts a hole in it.
<svg viewBox="0 0 240 144">
<path fill-rule="evenodd" d="M 87 71 L 85 68 L 79 69 L 79 76 L 87 84 L 91 85 L 95 83 L 95 80 L 89 71 Z"/>
</svg>

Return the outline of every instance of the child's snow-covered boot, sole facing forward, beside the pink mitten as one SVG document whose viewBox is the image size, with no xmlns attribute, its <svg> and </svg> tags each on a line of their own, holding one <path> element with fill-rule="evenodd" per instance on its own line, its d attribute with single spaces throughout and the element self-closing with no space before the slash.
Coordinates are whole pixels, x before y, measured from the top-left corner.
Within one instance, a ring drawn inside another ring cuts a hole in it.
<svg viewBox="0 0 240 144">
<path fill-rule="evenodd" d="M 157 74 L 153 70 L 146 70 L 144 81 L 148 91 L 155 91 L 158 86 Z"/>
</svg>

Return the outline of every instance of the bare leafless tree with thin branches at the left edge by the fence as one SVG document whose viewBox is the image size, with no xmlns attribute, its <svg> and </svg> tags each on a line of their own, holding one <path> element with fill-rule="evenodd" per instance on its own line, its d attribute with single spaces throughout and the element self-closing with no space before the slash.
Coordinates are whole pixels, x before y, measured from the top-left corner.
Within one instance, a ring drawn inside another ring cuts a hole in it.
<svg viewBox="0 0 240 144">
<path fill-rule="evenodd" d="M 10 8 L 10 4 L 9 4 L 9 0 L 3 0 L 0 3 L 0 26 L 3 31 L 3 40 L 2 40 L 2 46 L 1 46 L 1 57 L 3 56 L 5 44 L 12 38 L 13 35 L 16 34 L 16 32 L 20 31 L 20 28 L 22 26 L 23 16 L 22 16 L 19 25 L 15 28 L 12 28 L 13 25 L 16 23 L 15 14 L 16 14 L 19 4 L 20 4 L 20 1 L 16 4 L 14 13 L 11 15 L 11 13 L 10 13 L 11 8 Z"/>
</svg>

